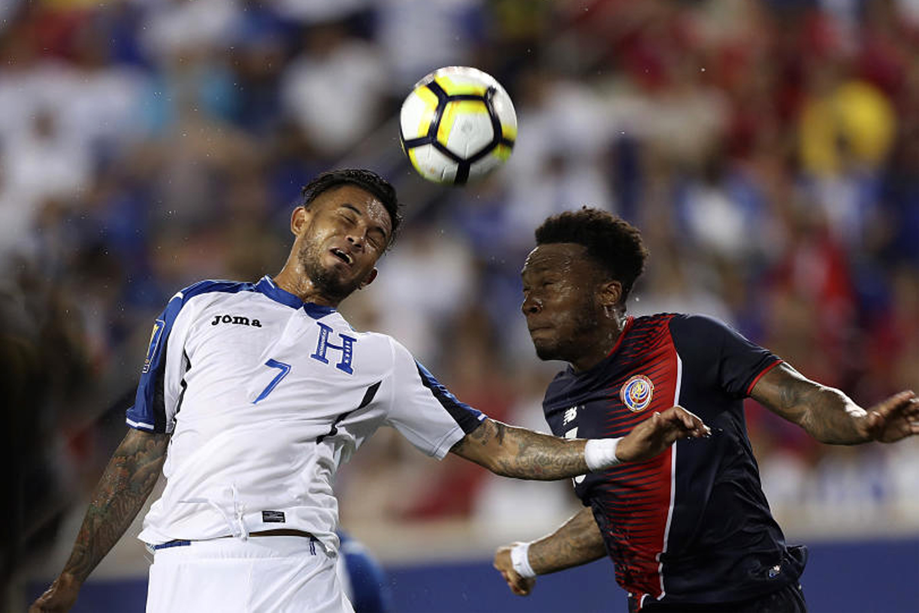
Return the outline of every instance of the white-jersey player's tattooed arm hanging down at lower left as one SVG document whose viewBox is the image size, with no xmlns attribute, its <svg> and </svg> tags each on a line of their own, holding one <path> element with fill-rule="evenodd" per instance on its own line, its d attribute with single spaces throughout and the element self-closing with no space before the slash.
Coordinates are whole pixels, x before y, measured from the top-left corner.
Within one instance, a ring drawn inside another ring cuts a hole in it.
<svg viewBox="0 0 919 613">
<path fill-rule="evenodd" d="M 130 526 L 153 491 L 165 460 L 167 434 L 131 428 L 96 485 L 70 559 L 29 611 L 65 611 L 89 573 Z"/>
</svg>

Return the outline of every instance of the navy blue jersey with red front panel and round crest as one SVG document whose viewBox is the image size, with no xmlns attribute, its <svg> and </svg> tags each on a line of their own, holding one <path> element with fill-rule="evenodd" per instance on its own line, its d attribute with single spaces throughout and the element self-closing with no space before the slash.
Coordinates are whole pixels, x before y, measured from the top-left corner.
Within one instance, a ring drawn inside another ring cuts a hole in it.
<svg viewBox="0 0 919 613">
<path fill-rule="evenodd" d="M 659 314 L 629 318 L 607 358 L 550 383 L 543 408 L 556 436 L 622 437 L 675 404 L 712 428 L 712 437 L 678 441 L 652 460 L 574 480 L 634 610 L 649 597 L 743 600 L 800 575 L 769 513 L 743 419 L 743 399 L 780 361 L 709 317 Z"/>
</svg>

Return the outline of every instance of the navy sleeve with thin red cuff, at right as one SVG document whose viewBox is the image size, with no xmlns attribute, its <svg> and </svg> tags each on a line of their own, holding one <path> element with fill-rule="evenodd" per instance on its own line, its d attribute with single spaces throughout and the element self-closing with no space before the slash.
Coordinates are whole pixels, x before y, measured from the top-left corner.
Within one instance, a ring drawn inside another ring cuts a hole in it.
<svg viewBox="0 0 919 613">
<path fill-rule="evenodd" d="M 670 329 L 684 363 L 704 370 L 734 397 L 749 396 L 756 381 L 782 361 L 728 324 L 706 315 L 676 315 Z"/>
</svg>

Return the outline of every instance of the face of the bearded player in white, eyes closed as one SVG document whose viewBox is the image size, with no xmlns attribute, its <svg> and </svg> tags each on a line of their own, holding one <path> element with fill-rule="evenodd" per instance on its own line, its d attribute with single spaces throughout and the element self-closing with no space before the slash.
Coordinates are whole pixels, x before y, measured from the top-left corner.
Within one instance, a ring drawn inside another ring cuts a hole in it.
<svg viewBox="0 0 919 613">
<path fill-rule="evenodd" d="M 335 301 L 376 277 L 391 236 L 390 214 L 357 186 L 333 187 L 294 212 L 298 270 Z"/>
</svg>

